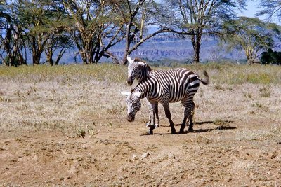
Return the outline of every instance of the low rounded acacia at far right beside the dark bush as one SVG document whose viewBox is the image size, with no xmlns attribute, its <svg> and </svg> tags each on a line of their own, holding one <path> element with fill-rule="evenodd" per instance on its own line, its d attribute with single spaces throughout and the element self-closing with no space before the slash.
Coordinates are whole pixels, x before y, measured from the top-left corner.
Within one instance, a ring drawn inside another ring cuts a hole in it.
<svg viewBox="0 0 281 187">
<path fill-rule="evenodd" d="M 280 35 L 280 27 L 263 22 L 259 18 L 241 17 L 223 26 L 228 48 L 244 50 L 248 62 L 258 57 L 262 51 L 272 48 L 274 39 Z"/>
</svg>

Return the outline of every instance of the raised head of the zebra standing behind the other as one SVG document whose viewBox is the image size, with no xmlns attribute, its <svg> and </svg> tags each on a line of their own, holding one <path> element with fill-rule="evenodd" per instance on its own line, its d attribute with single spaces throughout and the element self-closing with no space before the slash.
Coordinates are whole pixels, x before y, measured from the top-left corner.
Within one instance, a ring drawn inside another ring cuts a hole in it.
<svg viewBox="0 0 281 187">
<path fill-rule="evenodd" d="M 145 63 L 135 62 L 135 60 L 132 60 L 129 55 L 127 56 L 127 60 L 129 62 L 127 83 L 128 85 L 132 85 L 133 80 L 135 80 L 135 78 L 138 79 L 141 76 L 141 68 L 145 65 Z"/>
</svg>

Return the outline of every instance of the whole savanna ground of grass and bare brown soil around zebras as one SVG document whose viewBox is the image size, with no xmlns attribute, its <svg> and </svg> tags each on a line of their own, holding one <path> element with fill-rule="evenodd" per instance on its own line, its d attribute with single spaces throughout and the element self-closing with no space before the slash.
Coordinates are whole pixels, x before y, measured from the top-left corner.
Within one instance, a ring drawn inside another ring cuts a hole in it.
<svg viewBox="0 0 281 187">
<path fill-rule="evenodd" d="M 281 186 L 281 67 L 182 67 L 210 76 L 195 132 L 160 104 L 153 135 L 145 101 L 126 121 L 126 66 L 0 67 L 0 186 Z"/>
</svg>

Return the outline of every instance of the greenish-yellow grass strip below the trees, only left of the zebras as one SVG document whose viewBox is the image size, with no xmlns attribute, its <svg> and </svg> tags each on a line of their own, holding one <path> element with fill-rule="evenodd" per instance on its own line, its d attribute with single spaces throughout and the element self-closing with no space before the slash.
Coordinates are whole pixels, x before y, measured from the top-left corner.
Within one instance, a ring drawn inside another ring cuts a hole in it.
<svg viewBox="0 0 281 187">
<path fill-rule="evenodd" d="M 0 67 L 0 78 L 27 78 L 31 81 L 50 81 L 56 78 L 79 78 L 98 81 L 123 82 L 126 80 L 126 66 L 116 64 L 20 66 Z"/>
</svg>

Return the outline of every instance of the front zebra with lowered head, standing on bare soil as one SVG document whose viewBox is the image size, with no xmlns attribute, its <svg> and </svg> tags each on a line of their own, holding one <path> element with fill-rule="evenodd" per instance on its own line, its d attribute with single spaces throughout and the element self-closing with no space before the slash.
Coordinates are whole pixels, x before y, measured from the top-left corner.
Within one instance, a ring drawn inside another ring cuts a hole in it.
<svg viewBox="0 0 281 187">
<path fill-rule="evenodd" d="M 195 107 L 193 97 L 199 89 L 200 82 L 204 85 L 209 84 L 209 76 L 206 71 L 204 71 L 204 76 L 205 78 L 202 79 L 190 69 L 184 68 L 154 71 L 150 76 L 138 83 L 131 92 L 121 92 L 122 95 L 127 95 L 127 120 L 132 122 L 135 119 L 136 113 L 141 109 L 141 99 L 146 97 L 152 106 L 152 111 L 150 111 L 151 123 L 155 124 L 155 115 L 157 113 L 156 107 L 153 106 L 160 102 L 169 120 L 171 134 L 175 134 L 176 129 L 173 120 L 171 120 L 169 103 L 181 101 L 185 111 L 179 132 L 184 132 L 188 118 L 190 120 L 188 132 L 193 132 L 192 111 Z M 154 129 L 155 125 L 150 125 L 149 134 L 153 134 Z"/>
</svg>

